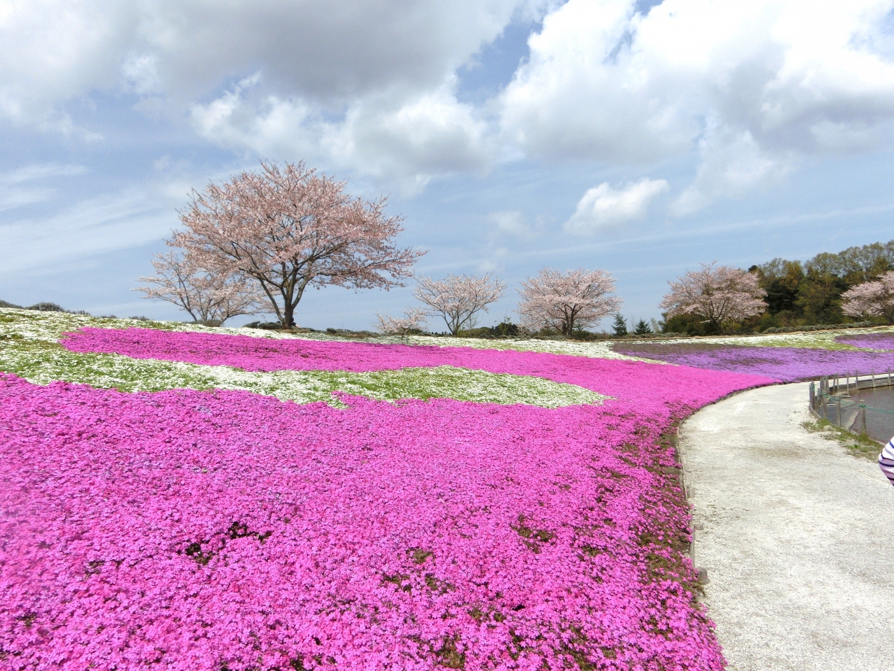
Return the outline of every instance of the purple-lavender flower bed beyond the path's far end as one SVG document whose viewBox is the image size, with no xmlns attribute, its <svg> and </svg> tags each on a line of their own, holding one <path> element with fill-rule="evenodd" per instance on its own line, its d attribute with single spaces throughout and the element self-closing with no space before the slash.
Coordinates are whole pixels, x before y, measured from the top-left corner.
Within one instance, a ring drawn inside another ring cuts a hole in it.
<svg viewBox="0 0 894 671">
<path fill-rule="evenodd" d="M 696 368 L 754 373 L 784 382 L 894 370 L 894 352 L 707 343 L 616 343 L 613 347 L 631 356 Z"/>
</svg>

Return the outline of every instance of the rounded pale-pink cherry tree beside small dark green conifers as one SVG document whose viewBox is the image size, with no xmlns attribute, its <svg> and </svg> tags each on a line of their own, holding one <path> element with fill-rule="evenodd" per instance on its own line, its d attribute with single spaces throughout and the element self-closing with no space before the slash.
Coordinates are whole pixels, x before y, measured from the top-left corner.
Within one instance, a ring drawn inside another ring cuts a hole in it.
<svg viewBox="0 0 894 671">
<path fill-rule="evenodd" d="M 519 289 L 522 326 L 531 330 L 551 328 L 562 335 L 593 326 L 618 310 L 621 299 L 614 293 L 614 277 L 605 270 L 542 268 Z"/>
</svg>

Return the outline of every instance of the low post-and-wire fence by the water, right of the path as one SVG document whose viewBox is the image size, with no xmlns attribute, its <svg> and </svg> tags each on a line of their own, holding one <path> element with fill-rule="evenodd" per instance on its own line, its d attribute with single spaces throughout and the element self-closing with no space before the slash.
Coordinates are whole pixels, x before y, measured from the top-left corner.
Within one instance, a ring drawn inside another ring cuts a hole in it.
<svg viewBox="0 0 894 671">
<path fill-rule="evenodd" d="M 810 383 L 810 412 L 841 429 L 886 443 L 894 434 L 894 375 L 889 370 L 820 378 Z"/>
</svg>

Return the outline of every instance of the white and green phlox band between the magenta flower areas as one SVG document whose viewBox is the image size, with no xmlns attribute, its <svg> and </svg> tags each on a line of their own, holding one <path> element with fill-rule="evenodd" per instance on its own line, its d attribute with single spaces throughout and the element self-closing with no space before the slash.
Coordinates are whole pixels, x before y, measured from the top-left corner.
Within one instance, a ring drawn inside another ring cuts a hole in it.
<svg viewBox="0 0 894 671">
<path fill-rule="evenodd" d="M 70 316 L 58 313 L 48 319 L 40 313 L 37 313 L 38 319 L 26 319 L 31 317 L 22 317 L 26 310 L 17 312 L 16 315 L 0 313 L 0 371 L 43 385 L 65 380 L 122 391 L 244 389 L 297 403 L 324 401 L 336 406 L 342 403 L 333 395 L 335 391 L 380 400 L 434 397 L 476 403 L 525 403 L 548 408 L 602 401 L 601 395 L 580 386 L 449 366 L 363 373 L 343 370 L 265 373 L 225 366 L 131 359 L 114 354 L 76 353 L 56 342 L 66 327 L 71 329 L 85 323 L 108 326 L 140 322 L 84 319 L 80 315 L 70 319 Z"/>
</svg>

